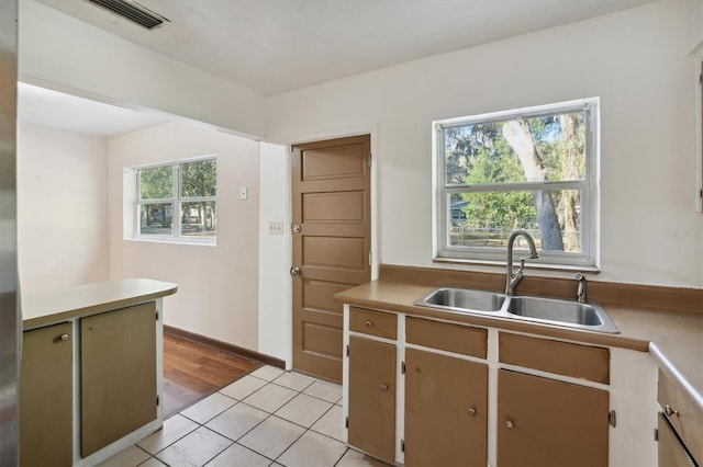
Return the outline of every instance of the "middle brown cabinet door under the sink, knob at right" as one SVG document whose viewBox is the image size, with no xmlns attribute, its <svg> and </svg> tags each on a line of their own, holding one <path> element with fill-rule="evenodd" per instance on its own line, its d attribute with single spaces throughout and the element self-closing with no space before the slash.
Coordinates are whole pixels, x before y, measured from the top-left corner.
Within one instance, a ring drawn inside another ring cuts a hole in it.
<svg viewBox="0 0 703 467">
<path fill-rule="evenodd" d="M 405 465 L 486 466 L 488 366 L 405 350 Z"/>
</svg>

